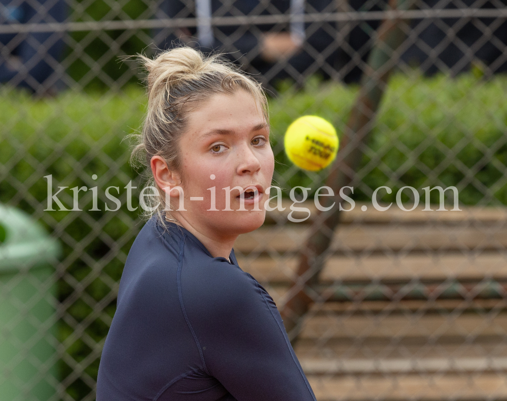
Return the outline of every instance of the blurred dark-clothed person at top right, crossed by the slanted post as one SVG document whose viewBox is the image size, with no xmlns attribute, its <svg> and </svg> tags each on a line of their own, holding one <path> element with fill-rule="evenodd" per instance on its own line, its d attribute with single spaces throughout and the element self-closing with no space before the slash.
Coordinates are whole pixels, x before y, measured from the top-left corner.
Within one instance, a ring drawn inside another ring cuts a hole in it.
<svg viewBox="0 0 507 401">
<path fill-rule="evenodd" d="M 497 3 L 463 0 L 453 2 L 441 0 L 423 0 L 418 3 L 419 9 L 456 9 L 502 8 L 506 0 Z M 386 8 L 385 0 L 349 0 L 346 11 L 381 11 Z M 337 57 L 337 69 L 342 71 L 346 83 L 358 82 L 363 74 L 363 67 L 353 61 L 354 54 L 367 62 L 373 46 L 373 33 L 380 26 L 380 20 L 354 22 L 347 37 L 348 51 L 341 51 Z M 507 45 L 507 22 L 496 18 L 477 18 L 467 20 L 460 18 L 442 18 L 432 20 L 414 19 L 409 21 L 411 29 L 417 34 L 413 43 L 402 55 L 402 60 L 422 73 L 431 76 L 439 72 L 456 75 L 480 63 L 491 73 L 507 71 L 507 55 L 503 48 Z M 487 28 L 486 28 L 487 27 Z M 488 32 L 490 30 L 490 32 Z M 343 47 L 342 47 L 343 49 Z"/>
</svg>

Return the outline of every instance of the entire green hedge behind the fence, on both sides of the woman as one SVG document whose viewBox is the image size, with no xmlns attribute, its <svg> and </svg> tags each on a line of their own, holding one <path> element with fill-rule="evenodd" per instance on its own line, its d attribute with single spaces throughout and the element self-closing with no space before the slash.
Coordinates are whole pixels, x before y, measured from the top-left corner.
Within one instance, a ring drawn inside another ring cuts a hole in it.
<svg viewBox="0 0 507 401">
<path fill-rule="evenodd" d="M 281 95 L 270 101 L 273 147 L 276 154 L 276 181 L 285 192 L 296 185 L 316 189 L 328 170 L 307 174 L 296 169 L 281 147 L 283 133 L 289 123 L 305 114 L 316 114 L 332 121 L 343 130 L 348 113 L 357 95 L 357 87 L 310 80 L 304 90 L 282 88 Z M 507 205 L 507 186 L 504 184 L 507 164 L 507 78 L 497 76 L 490 81 L 470 75 L 457 79 L 445 76 L 422 78 L 396 75 L 379 111 L 377 124 L 361 161 L 360 185 L 354 196 L 368 200 L 371 191 L 381 185 L 393 189 L 383 200 L 392 202 L 397 188 L 410 185 L 422 188 L 430 185 L 454 185 L 460 189 L 462 204 Z M 122 208 L 110 220 L 110 214 L 88 211 L 92 208 L 89 191 L 81 195 L 83 212 L 42 212 L 56 222 L 68 219 L 64 235 L 81 241 L 92 240 L 84 248 L 87 257 L 72 260 L 67 273 L 77 282 L 86 282 L 93 266 L 91 260 L 110 258 L 101 275 L 87 283 L 86 296 L 74 302 L 68 312 L 78 322 L 92 312 L 86 297 L 97 302 L 110 293 L 111 281 L 118 281 L 123 262 L 115 252 L 93 234 L 91 222 L 99 221 L 102 232 L 113 241 L 126 235 L 128 241 L 121 250 L 127 254 L 135 232 L 129 230 L 137 212 L 129 212 L 125 205 L 125 189 L 129 180 L 138 182 L 138 172 L 128 165 L 129 142 L 123 141 L 127 133 L 139 127 L 146 108 L 146 97 L 138 85 L 128 87 L 120 94 L 62 93 L 54 99 L 35 100 L 22 92 L 5 92 L 0 96 L 0 164 L 8 169 L 9 177 L 0 182 L 0 202 L 19 206 L 33 214 L 32 205 L 46 208 L 47 181 L 53 175 L 53 188 L 57 186 L 97 185 L 99 194 L 108 186 L 121 190 Z M 4 173 L 5 174 L 5 173 Z M 91 176 L 96 174 L 94 181 Z M 21 184 L 18 184 L 21 183 Z M 137 185 L 139 186 L 139 185 Z M 71 194 L 69 189 L 68 193 Z M 491 196 L 485 196 L 490 194 Z M 138 192 L 134 193 L 138 195 Z M 434 194 L 436 195 L 436 194 Z M 134 196 L 135 201 L 136 196 Z M 63 200 L 63 197 L 60 196 Z M 436 200 L 436 199 L 433 199 Z M 65 201 L 64 201 L 65 203 Z M 56 205 L 55 205 L 56 206 Z M 71 207 L 66 203 L 67 207 Z M 109 204 L 110 208 L 115 205 Z M 134 202 L 134 207 L 137 203 Z M 76 217 L 77 216 L 77 217 Z M 50 221 L 50 219 L 47 219 Z M 41 219 L 49 230 L 52 223 Z M 107 221 L 106 223 L 103 223 Z M 63 244 L 64 258 L 74 251 Z M 60 299 L 67 299 L 74 291 L 72 280 L 60 282 Z M 104 302 L 104 301 L 103 301 Z M 107 303 L 106 314 L 113 316 L 115 301 Z M 100 341 L 107 333 L 107 324 L 100 316 L 86 327 L 86 333 Z M 62 322 L 61 339 L 67 338 L 73 327 Z M 78 340 L 68 349 L 81 361 L 90 353 L 84 341 Z M 89 364 L 86 372 L 96 377 L 98 359 Z M 64 367 L 64 374 L 70 368 Z M 76 399 L 89 392 L 81 381 L 73 383 L 68 392 Z"/>
</svg>

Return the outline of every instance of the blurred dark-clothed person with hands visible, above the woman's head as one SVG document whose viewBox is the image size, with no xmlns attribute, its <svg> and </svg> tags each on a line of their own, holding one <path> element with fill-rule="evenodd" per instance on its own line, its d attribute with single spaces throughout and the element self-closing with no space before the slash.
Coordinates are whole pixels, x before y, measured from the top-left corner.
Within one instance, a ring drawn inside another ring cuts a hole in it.
<svg viewBox="0 0 507 401">
<path fill-rule="evenodd" d="M 212 27 L 210 17 L 273 15 L 336 12 L 334 0 L 241 0 L 225 4 L 221 0 L 164 0 L 157 18 L 198 18 L 196 27 L 178 28 L 165 37 L 156 33 L 155 43 L 167 49 L 172 43 L 198 46 L 201 51 L 218 51 L 234 62 L 249 63 L 275 81 L 292 77 L 296 80 L 303 74 L 320 73 L 329 77 L 329 69 L 317 68 L 316 59 L 324 55 L 328 66 L 333 65 L 337 55 L 334 23 L 322 22 L 310 29 L 310 23 L 289 22 L 288 24 L 231 25 Z M 280 62 L 281 61 L 281 62 Z M 319 61 L 321 66 L 322 62 Z"/>
</svg>

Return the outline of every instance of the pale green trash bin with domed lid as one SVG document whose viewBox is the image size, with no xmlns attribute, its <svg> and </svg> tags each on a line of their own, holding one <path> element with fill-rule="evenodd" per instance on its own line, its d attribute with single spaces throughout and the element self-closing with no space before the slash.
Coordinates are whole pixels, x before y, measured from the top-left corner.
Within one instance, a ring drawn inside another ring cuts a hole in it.
<svg viewBox="0 0 507 401">
<path fill-rule="evenodd" d="M 0 205 L 0 401 L 46 401 L 59 382 L 52 279 L 60 244 Z"/>
</svg>

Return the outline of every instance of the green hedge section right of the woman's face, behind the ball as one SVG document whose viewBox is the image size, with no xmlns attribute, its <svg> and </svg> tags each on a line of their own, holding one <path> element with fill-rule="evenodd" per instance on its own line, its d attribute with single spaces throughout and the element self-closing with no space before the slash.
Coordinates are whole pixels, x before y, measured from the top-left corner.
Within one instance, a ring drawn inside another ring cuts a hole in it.
<svg viewBox="0 0 507 401">
<path fill-rule="evenodd" d="M 304 91 L 286 90 L 271 103 L 275 137 L 303 114 L 316 114 L 343 131 L 357 87 L 310 81 Z M 507 77 L 483 81 L 474 74 L 456 79 L 395 75 L 382 99 L 368 149 L 361 160 L 357 200 L 371 201 L 375 188 L 393 189 L 382 199 L 395 202 L 403 186 L 456 186 L 465 205 L 507 205 Z M 294 171 L 283 152 L 277 171 Z M 317 188 L 327 175 L 298 172 L 289 187 Z M 421 192 L 424 193 L 424 192 Z M 408 200 L 407 197 L 403 199 Z M 431 194 L 438 202 L 437 193 Z"/>
</svg>

